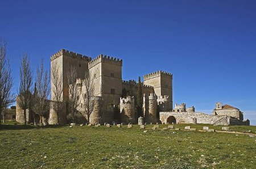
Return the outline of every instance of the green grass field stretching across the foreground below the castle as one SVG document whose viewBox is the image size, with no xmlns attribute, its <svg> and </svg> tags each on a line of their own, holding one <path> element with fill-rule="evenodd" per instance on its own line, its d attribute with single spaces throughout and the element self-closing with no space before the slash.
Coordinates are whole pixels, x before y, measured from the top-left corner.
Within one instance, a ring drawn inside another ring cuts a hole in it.
<svg viewBox="0 0 256 169">
<path fill-rule="evenodd" d="M 0 168 L 255 168 L 255 137 L 161 130 L 166 126 L 147 125 L 145 132 L 138 125 L 36 127 L 11 121 L 0 127 Z M 256 126 L 230 130 L 255 134 Z"/>
</svg>

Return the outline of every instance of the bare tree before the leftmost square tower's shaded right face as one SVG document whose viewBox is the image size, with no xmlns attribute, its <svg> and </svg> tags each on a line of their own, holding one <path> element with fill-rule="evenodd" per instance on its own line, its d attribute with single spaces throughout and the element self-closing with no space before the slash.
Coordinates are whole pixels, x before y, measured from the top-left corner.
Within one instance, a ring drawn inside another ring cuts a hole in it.
<svg viewBox="0 0 256 169">
<path fill-rule="evenodd" d="M 72 117 L 72 122 L 75 122 L 75 114 L 77 112 L 77 108 L 80 105 L 80 91 L 79 91 L 79 84 L 76 84 L 77 79 L 77 70 L 76 67 L 70 67 L 67 71 L 67 79 L 68 79 L 68 107 L 69 107 L 69 113 Z"/>
</svg>

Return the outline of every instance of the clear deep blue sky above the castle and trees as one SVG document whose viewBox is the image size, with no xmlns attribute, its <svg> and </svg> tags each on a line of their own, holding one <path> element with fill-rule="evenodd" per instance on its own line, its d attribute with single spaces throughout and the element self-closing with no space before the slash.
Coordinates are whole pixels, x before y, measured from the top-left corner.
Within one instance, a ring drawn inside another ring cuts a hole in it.
<svg viewBox="0 0 256 169">
<path fill-rule="evenodd" d="M 221 101 L 256 125 L 256 1 L 1 1 L 15 81 L 61 48 L 123 59 L 123 79 L 173 74 L 174 104 L 212 112 Z"/>
</svg>

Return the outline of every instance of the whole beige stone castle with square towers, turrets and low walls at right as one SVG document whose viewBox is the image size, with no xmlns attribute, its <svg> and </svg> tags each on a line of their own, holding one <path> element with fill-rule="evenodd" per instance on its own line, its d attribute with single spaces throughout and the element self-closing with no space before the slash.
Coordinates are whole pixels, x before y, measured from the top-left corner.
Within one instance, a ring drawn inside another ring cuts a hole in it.
<svg viewBox="0 0 256 169">
<path fill-rule="evenodd" d="M 61 98 L 68 98 L 68 68 L 73 66 L 77 70 L 76 85 L 79 86 L 80 94 L 85 90 L 84 77 L 86 73 L 91 75 L 94 84 L 94 99 L 98 100 L 94 107 L 90 120 L 82 115 L 84 104 L 81 101 L 77 110 L 81 112 L 81 121 L 97 123 L 123 122 L 125 124 L 137 124 L 138 113 L 137 93 L 138 83 L 134 80 L 122 80 L 122 60 L 100 54 L 96 58 L 84 56 L 61 49 L 51 56 L 51 67 L 53 64 L 59 66 L 62 78 L 63 92 Z M 52 85 L 51 85 L 52 86 Z M 52 89 L 51 89 L 52 90 Z M 127 95 L 129 93 L 129 95 Z M 250 125 L 249 120 L 243 121 L 243 113 L 230 105 L 216 103 L 212 115 L 196 112 L 195 107 L 186 108 L 185 103 L 175 104 L 172 102 L 172 74 L 165 71 L 156 71 L 143 76 L 143 118 L 147 124 L 156 122 L 164 124 L 195 123 L 215 125 Z M 51 94 L 51 100 L 54 98 Z M 81 96 L 80 96 L 81 98 Z M 100 100 L 104 104 L 100 104 Z M 23 116 L 17 107 L 18 122 L 23 122 Z M 19 114 L 19 115 L 18 115 Z M 63 109 L 59 115 L 59 123 L 67 123 L 68 110 Z M 16 118 L 17 120 L 17 118 Z M 49 124 L 57 123 L 57 115 L 53 109 L 49 111 Z"/>
</svg>

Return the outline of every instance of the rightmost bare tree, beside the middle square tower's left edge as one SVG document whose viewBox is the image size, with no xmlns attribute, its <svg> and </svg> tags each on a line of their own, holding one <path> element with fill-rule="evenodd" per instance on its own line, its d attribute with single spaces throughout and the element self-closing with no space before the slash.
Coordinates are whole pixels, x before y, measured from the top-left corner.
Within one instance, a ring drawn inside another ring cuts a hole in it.
<svg viewBox="0 0 256 169">
<path fill-rule="evenodd" d="M 93 112 L 96 99 L 94 98 L 94 83 L 89 73 L 86 73 L 84 79 L 84 91 L 82 91 L 82 99 L 84 101 L 84 114 L 90 121 L 90 115 Z"/>
</svg>

